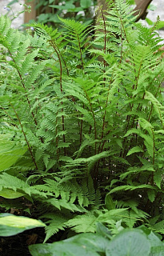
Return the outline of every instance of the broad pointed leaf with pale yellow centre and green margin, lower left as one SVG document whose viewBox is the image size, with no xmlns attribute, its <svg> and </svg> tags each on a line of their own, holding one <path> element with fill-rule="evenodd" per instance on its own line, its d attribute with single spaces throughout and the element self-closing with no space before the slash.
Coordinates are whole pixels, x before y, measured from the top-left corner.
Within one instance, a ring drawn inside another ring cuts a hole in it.
<svg viewBox="0 0 164 256">
<path fill-rule="evenodd" d="M 0 214 L 0 236 L 8 237 L 35 227 L 46 226 L 34 218 L 19 217 L 14 214 Z"/>
</svg>

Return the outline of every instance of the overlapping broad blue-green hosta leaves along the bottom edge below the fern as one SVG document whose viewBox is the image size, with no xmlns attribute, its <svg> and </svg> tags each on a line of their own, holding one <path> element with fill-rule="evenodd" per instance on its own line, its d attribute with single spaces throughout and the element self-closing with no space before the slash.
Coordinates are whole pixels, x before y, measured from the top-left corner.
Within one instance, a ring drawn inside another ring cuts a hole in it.
<svg viewBox="0 0 164 256">
<path fill-rule="evenodd" d="M 104 226 L 98 224 L 98 229 Z M 42 255 L 105 255 L 105 256 L 160 256 L 163 242 L 153 233 L 142 229 L 122 230 L 114 238 L 109 238 L 109 230 L 97 234 L 78 234 L 61 242 L 30 246 L 30 254 Z"/>
</svg>

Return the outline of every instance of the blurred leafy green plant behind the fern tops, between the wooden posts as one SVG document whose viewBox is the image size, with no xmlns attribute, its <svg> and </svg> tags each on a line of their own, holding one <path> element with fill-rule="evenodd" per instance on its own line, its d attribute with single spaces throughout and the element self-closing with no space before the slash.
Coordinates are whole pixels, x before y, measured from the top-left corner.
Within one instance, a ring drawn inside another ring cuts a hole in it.
<svg viewBox="0 0 164 256">
<path fill-rule="evenodd" d="M 22 2 L 13 0 L 9 2 L 9 11 L 16 3 Z M 74 18 L 78 22 L 86 22 L 86 24 L 93 24 L 95 19 L 95 9 L 97 5 L 96 0 L 27 0 L 25 6 L 26 11 L 30 11 L 30 4 L 34 2 L 34 9 L 36 11 L 36 20 L 39 23 L 49 24 L 54 28 L 59 29 L 58 16 L 62 18 Z M 28 4 L 28 5 L 27 5 Z M 30 21 L 34 22 L 34 21 Z"/>
</svg>

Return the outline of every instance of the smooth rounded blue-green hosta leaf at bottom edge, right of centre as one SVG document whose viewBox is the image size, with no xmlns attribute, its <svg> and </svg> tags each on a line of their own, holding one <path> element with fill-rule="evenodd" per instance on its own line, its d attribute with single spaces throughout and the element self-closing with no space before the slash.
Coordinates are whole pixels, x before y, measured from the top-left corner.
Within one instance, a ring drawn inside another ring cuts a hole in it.
<svg viewBox="0 0 164 256">
<path fill-rule="evenodd" d="M 142 230 L 122 230 L 110 241 L 106 256 L 148 256 L 150 242 Z"/>
</svg>

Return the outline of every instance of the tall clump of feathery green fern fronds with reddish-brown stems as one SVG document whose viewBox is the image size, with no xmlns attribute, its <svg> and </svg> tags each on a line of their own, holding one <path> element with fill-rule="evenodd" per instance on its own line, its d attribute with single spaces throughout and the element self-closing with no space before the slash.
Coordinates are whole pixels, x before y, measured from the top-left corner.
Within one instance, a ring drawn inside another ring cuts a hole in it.
<svg viewBox="0 0 164 256">
<path fill-rule="evenodd" d="M 158 21 L 148 29 L 124 1 L 108 5 L 94 38 L 74 20 L 60 18 L 60 31 L 34 23 L 31 35 L 0 18 L 0 206 L 41 219 L 44 242 L 97 223 L 115 243 L 141 229 L 164 234 Z"/>
</svg>

